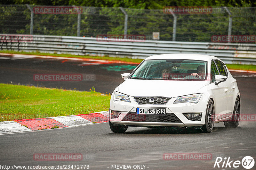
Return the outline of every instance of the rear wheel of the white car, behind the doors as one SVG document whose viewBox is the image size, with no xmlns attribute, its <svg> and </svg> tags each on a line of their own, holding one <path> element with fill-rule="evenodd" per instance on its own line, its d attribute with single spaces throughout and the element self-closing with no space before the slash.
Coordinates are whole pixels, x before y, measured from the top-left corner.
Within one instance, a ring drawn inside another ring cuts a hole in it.
<svg viewBox="0 0 256 170">
<path fill-rule="evenodd" d="M 236 97 L 236 103 L 230 120 L 224 121 L 225 127 L 237 127 L 240 122 L 240 100 Z"/>
</svg>

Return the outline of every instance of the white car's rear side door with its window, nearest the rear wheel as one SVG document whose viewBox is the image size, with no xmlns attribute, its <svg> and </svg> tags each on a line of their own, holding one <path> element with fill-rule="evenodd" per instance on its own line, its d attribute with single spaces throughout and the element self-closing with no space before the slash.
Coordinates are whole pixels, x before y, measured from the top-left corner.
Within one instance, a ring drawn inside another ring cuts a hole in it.
<svg viewBox="0 0 256 170">
<path fill-rule="evenodd" d="M 225 64 L 222 63 L 219 60 L 215 60 L 215 62 L 216 62 L 216 65 L 218 67 L 218 70 L 220 72 L 220 75 L 224 75 L 224 76 L 228 77 L 228 72 L 227 72 Z M 226 93 L 227 93 L 227 113 L 226 113 L 226 116 L 228 117 L 232 114 L 233 107 L 234 107 L 233 106 L 233 104 L 234 104 L 234 102 L 233 102 L 234 90 L 232 89 L 233 85 L 232 85 L 232 82 L 231 82 L 230 78 L 226 79 L 225 84 L 226 84 Z"/>
</svg>

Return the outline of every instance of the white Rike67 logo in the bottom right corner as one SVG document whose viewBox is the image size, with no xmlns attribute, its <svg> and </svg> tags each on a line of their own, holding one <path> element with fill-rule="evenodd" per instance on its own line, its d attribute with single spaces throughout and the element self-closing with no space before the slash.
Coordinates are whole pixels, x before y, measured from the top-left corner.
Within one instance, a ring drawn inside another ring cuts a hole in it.
<svg viewBox="0 0 256 170">
<path fill-rule="evenodd" d="M 222 159 L 221 157 L 217 157 L 214 163 L 214 168 L 238 168 L 240 166 L 243 166 L 245 169 L 251 169 L 254 166 L 254 159 L 251 156 L 245 156 L 242 161 L 240 160 L 230 160 L 230 157 L 225 157 Z"/>
</svg>

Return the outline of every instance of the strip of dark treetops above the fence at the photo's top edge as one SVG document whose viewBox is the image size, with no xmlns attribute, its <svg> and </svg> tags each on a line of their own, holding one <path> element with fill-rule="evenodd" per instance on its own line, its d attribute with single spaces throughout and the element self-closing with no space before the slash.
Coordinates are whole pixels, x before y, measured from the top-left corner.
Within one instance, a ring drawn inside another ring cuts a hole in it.
<svg viewBox="0 0 256 170">
<path fill-rule="evenodd" d="M 0 4 L 31 4 L 31 5 L 77 5 L 94 7 L 124 7 L 136 9 L 163 9 L 164 6 L 227 6 L 253 7 L 251 0 L 4 0 Z"/>
</svg>

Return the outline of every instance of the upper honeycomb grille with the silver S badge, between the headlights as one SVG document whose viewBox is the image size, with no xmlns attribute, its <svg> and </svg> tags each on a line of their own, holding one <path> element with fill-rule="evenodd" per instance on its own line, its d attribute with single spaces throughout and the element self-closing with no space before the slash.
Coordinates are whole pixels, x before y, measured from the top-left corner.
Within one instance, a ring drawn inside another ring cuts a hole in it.
<svg viewBox="0 0 256 170">
<path fill-rule="evenodd" d="M 171 100 L 171 97 L 134 96 L 133 98 L 138 104 L 166 104 Z"/>
</svg>

